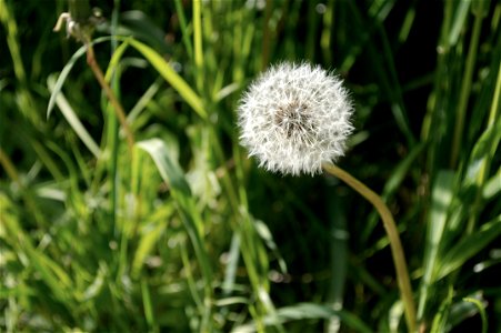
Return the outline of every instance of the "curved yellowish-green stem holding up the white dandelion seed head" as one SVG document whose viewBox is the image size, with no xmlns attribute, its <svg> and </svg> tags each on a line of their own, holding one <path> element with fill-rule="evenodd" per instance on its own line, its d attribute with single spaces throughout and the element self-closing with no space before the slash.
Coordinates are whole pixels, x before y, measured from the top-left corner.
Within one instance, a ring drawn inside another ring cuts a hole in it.
<svg viewBox="0 0 501 333">
<path fill-rule="evenodd" d="M 378 210 L 390 241 L 391 254 L 397 272 L 397 281 L 400 289 L 403 309 L 405 313 L 407 325 L 409 332 L 415 332 L 415 305 L 412 299 L 412 289 L 407 269 L 405 256 L 403 254 L 402 243 L 393 216 L 381 196 L 375 194 L 371 189 L 362 182 L 353 178 L 350 173 L 335 167 L 332 163 L 322 163 L 323 170 L 330 174 L 341 179 L 353 190 L 359 192 Z"/>
</svg>

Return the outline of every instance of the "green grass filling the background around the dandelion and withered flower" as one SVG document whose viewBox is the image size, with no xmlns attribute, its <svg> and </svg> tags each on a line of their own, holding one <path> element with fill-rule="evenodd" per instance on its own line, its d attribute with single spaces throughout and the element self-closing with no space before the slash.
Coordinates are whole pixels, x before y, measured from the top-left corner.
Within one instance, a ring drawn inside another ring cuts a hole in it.
<svg viewBox="0 0 501 333">
<path fill-rule="evenodd" d="M 129 150 L 68 3 L 0 0 L 0 330 L 405 332 L 373 208 L 238 143 L 249 82 L 305 60 L 352 91 L 340 164 L 392 210 L 420 327 L 500 331 L 501 6 L 249 3 L 91 1 Z"/>
</svg>

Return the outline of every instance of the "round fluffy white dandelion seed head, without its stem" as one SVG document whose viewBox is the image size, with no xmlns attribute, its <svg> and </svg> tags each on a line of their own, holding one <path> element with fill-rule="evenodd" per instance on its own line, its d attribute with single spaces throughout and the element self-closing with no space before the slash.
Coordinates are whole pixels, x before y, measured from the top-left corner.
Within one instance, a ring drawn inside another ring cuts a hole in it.
<svg viewBox="0 0 501 333">
<path fill-rule="evenodd" d="M 283 62 L 262 73 L 238 107 L 240 141 L 260 167 L 319 173 L 344 154 L 353 127 L 342 81 L 319 65 Z"/>
</svg>

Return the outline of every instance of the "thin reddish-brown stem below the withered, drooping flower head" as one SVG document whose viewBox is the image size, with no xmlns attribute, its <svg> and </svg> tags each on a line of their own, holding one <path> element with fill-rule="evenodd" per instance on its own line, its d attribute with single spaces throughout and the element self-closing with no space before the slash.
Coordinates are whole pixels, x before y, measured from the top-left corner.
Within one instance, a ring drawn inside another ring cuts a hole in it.
<svg viewBox="0 0 501 333">
<path fill-rule="evenodd" d="M 104 90 L 104 93 L 107 94 L 111 105 L 113 107 L 114 113 L 117 114 L 117 118 L 119 119 L 120 124 L 122 125 L 123 132 L 126 133 L 129 152 L 130 155 L 132 157 L 134 147 L 134 137 L 132 134 L 132 131 L 130 130 L 129 123 L 127 122 L 126 112 L 123 111 L 122 105 L 114 95 L 113 90 L 111 90 L 110 84 L 108 84 L 108 82 L 106 81 L 104 74 L 102 73 L 101 68 L 96 61 L 92 43 L 87 42 L 86 44 L 87 44 L 87 63 L 91 68 L 96 79 L 98 80 L 101 88 Z"/>
</svg>

